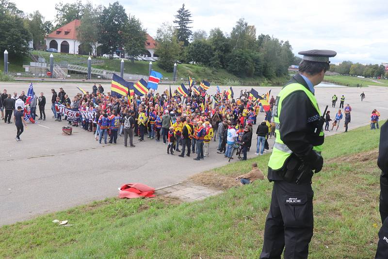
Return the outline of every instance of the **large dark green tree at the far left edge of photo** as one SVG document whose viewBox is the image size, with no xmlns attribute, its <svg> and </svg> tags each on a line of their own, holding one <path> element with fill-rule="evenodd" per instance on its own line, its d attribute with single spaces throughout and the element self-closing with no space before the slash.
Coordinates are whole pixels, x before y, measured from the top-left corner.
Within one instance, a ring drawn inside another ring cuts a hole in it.
<svg viewBox="0 0 388 259">
<path fill-rule="evenodd" d="M 7 0 L 0 2 L 0 51 L 21 55 L 28 51 L 31 33 L 26 28 L 22 12 Z"/>
</svg>

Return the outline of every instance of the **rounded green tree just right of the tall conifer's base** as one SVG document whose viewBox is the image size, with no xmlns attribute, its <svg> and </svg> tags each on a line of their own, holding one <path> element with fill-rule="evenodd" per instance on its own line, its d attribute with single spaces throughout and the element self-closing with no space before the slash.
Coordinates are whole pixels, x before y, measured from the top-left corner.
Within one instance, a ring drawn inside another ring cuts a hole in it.
<svg viewBox="0 0 388 259">
<path fill-rule="evenodd" d="M 210 58 L 213 56 L 211 45 L 207 40 L 193 41 L 187 51 L 187 58 L 198 64 L 210 65 Z"/>
</svg>

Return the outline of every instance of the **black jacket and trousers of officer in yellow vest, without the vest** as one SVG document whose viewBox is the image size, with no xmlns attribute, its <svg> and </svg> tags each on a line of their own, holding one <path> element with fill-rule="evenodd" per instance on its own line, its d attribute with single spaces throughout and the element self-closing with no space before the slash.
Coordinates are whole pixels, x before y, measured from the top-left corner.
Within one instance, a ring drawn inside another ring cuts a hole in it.
<svg viewBox="0 0 388 259">
<path fill-rule="evenodd" d="M 286 86 L 295 82 L 308 89 L 306 81 L 299 74 L 295 75 Z M 296 184 L 296 178 L 300 174 L 299 166 L 294 168 L 291 179 L 286 180 L 283 175 L 289 163 L 300 164 L 301 160 L 317 161 L 312 148 L 322 145 L 324 137 L 315 135 L 312 127 L 307 123 L 308 118 L 316 115 L 316 109 L 302 91 L 295 91 L 282 101 L 279 116 L 281 139 L 293 151 L 293 154 L 282 170 L 268 169 L 268 179 L 275 183 L 271 207 L 265 224 L 264 244 L 260 255 L 262 259 L 280 259 L 284 246 L 286 246 L 284 258 L 307 258 L 308 244 L 313 234 L 314 224 L 312 205 L 314 192 L 311 188 L 313 172 L 306 173 L 299 184 Z M 322 168 L 323 160 L 317 163 L 321 163 L 318 166 Z M 286 204 L 287 200 L 292 201 L 292 205 Z"/>
</svg>

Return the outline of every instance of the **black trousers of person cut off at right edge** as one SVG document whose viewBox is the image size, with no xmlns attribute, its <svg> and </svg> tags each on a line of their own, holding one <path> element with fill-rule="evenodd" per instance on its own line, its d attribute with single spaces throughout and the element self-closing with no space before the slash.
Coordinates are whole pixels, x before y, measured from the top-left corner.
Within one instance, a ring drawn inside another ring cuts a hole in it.
<svg viewBox="0 0 388 259">
<path fill-rule="evenodd" d="M 380 216 L 383 226 L 379 231 L 376 259 L 388 259 L 388 176 L 380 177 Z"/>
</svg>

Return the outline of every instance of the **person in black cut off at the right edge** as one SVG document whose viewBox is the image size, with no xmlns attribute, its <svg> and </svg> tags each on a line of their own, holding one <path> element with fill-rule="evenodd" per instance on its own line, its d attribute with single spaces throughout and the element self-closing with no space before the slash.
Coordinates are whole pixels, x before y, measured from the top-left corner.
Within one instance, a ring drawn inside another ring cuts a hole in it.
<svg viewBox="0 0 388 259">
<path fill-rule="evenodd" d="M 388 257 L 388 124 L 380 129 L 380 146 L 377 165 L 381 169 L 380 176 L 380 217 L 383 226 L 379 231 L 376 259 Z"/>
</svg>

